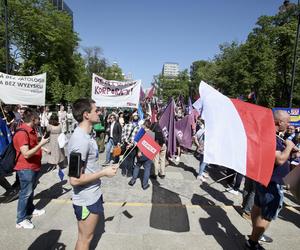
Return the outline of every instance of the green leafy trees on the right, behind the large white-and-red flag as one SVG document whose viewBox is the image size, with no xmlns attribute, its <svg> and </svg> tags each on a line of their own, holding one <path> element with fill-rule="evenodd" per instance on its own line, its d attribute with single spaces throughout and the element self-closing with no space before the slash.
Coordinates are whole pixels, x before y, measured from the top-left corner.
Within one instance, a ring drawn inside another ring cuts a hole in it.
<svg viewBox="0 0 300 250">
<path fill-rule="evenodd" d="M 296 28 L 294 11 L 260 17 L 245 43 L 223 44 L 212 61 L 193 62 L 193 91 L 198 91 L 199 82 L 204 80 L 233 98 L 255 92 L 259 105 L 287 107 Z M 293 92 L 296 107 L 300 105 L 299 66 L 298 60 Z"/>
</svg>

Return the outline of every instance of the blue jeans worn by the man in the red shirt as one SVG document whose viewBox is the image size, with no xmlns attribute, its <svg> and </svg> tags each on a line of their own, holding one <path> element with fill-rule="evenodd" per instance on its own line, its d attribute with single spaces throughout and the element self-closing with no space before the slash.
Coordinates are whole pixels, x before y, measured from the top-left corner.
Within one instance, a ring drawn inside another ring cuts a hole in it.
<svg viewBox="0 0 300 250">
<path fill-rule="evenodd" d="M 27 216 L 32 215 L 32 212 L 34 210 L 33 192 L 36 186 L 36 177 L 38 173 L 39 172 L 35 172 L 30 169 L 17 171 L 20 179 L 17 223 L 25 220 Z"/>
</svg>

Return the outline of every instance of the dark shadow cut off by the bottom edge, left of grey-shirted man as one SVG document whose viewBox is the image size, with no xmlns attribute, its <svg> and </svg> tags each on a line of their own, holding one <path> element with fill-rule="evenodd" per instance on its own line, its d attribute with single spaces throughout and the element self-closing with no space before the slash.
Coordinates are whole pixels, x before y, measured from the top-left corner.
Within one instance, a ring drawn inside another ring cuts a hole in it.
<svg viewBox="0 0 300 250">
<path fill-rule="evenodd" d="M 41 234 L 28 248 L 28 250 L 64 250 L 66 245 L 58 242 L 61 230 L 50 230 Z"/>
</svg>

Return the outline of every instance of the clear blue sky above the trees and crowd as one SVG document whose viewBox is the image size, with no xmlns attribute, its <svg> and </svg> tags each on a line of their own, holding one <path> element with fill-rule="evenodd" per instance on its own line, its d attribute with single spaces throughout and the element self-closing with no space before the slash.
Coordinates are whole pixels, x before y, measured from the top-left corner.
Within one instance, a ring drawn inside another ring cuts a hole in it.
<svg viewBox="0 0 300 250">
<path fill-rule="evenodd" d="M 110 63 L 148 88 L 166 62 L 189 70 L 194 61 L 213 59 L 220 44 L 244 42 L 258 17 L 276 14 L 283 0 L 65 2 L 80 47 L 100 47 Z"/>
</svg>

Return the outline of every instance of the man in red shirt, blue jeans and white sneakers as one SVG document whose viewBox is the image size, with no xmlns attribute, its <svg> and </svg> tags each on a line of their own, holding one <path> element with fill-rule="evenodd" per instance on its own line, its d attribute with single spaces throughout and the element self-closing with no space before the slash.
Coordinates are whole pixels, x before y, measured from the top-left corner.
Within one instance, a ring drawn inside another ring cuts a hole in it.
<svg viewBox="0 0 300 250">
<path fill-rule="evenodd" d="M 35 209 L 33 205 L 33 192 L 36 186 L 36 177 L 41 169 L 42 146 L 49 142 L 49 138 L 42 138 L 38 142 L 36 127 L 39 124 L 39 116 L 32 109 L 24 112 L 24 123 L 13 138 L 16 149 L 15 170 L 20 179 L 20 193 L 17 208 L 16 228 L 33 229 L 34 225 L 29 219 L 31 216 L 39 216 L 45 210 Z"/>
</svg>

